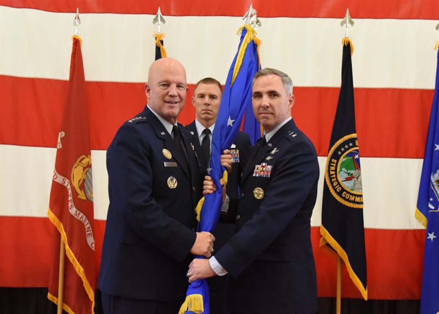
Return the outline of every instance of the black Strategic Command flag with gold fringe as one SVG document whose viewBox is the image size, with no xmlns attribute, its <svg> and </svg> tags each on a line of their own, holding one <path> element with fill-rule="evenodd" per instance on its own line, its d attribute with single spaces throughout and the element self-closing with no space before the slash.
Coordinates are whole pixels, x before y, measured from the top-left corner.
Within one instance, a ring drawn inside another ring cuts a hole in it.
<svg viewBox="0 0 439 314">
<path fill-rule="evenodd" d="M 328 245 L 344 261 L 367 300 L 363 189 L 355 128 L 351 43 L 343 40 L 342 86 L 332 126 L 323 187 L 320 246 Z"/>
</svg>

